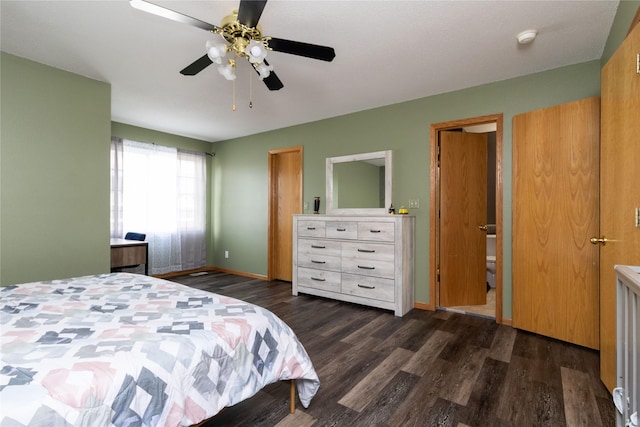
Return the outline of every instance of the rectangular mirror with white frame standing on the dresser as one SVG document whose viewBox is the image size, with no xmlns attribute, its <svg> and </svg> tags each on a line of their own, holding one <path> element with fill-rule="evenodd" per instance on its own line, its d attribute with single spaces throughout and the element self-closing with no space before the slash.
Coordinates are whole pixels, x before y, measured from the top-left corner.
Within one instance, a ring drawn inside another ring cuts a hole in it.
<svg viewBox="0 0 640 427">
<path fill-rule="evenodd" d="M 327 158 L 327 214 L 386 214 L 391 150 Z"/>
</svg>

